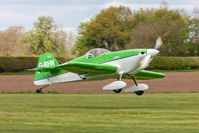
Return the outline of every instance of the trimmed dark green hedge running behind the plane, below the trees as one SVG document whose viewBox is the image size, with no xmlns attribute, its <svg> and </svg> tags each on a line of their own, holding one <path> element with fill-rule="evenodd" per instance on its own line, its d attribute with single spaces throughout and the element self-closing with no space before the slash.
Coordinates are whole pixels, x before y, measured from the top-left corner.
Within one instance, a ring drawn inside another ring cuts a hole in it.
<svg viewBox="0 0 199 133">
<path fill-rule="evenodd" d="M 58 57 L 60 62 L 69 59 Z M 38 57 L 0 57 L 0 72 L 19 72 L 36 67 Z M 199 69 L 199 57 L 155 57 L 148 69 L 187 70 Z"/>
</svg>

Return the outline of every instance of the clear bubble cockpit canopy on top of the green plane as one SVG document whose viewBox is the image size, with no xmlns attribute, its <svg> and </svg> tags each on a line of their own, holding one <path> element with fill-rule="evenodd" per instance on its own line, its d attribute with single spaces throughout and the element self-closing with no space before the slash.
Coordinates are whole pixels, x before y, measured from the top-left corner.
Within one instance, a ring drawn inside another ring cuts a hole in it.
<svg viewBox="0 0 199 133">
<path fill-rule="evenodd" d="M 95 49 L 91 49 L 90 51 L 88 51 L 86 53 L 86 55 L 88 58 L 92 58 L 92 57 L 96 57 L 100 54 L 107 53 L 107 52 L 110 52 L 110 51 L 107 49 L 103 49 L 103 48 L 95 48 Z"/>
</svg>

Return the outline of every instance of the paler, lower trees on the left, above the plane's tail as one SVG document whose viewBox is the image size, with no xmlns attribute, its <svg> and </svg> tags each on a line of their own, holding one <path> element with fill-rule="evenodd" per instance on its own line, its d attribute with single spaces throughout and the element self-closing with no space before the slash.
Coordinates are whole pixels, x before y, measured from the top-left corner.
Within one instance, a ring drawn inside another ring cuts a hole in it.
<svg viewBox="0 0 199 133">
<path fill-rule="evenodd" d="M 39 55 L 51 52 L 55 56 L 71 56 L 74 34 L 60 28 L 52 17 L 40 16 L 34 27 L 22 26 L 0 31 L 0 56 Z"/>
</svg>

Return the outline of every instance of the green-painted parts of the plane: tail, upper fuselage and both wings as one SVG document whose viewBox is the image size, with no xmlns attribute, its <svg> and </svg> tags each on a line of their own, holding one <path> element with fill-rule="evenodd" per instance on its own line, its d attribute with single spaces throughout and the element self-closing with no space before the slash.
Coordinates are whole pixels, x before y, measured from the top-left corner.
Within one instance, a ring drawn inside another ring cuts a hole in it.
<svg viewBox="0 0 199 133">
<path fill-rule="evenodd" d="M 103 65 L 102 63 L 123 59 L 138 54 L 146 54 L 147 49 L 132 49 L 116 52 L 107 52 L 96 57 L 88 58 L 87 54 L 71 60 L 64 64 L 59 64 L 51 53 L 40 55 L 36 69 L 34 80 L 45 79 L 69 72 L 78 74 L 85 73 L 115 73 L 116 66 Z M 137 79 L 144 78 L 163 78 L 165 75 L 161 73 L 150 72 L 146 70 L 139 71 L 136 75 Z"/>
</svg>

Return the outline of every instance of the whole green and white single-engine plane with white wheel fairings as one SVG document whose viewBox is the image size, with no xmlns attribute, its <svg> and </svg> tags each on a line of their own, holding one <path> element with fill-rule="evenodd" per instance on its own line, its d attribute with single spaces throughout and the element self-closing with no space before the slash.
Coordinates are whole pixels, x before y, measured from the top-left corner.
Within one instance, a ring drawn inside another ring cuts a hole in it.
<svg viewBox="0 0 199 133">
<path fill-rule="evenodd" d="M 51 53 L 40 55 L 35 71 L 34 84 L 45 85 L 37 89 L 40 93 L 45 87 L 65 82 L 103 80 L 117 78 L 116 81 L 103 87 L 103 90 L 111 90 L 120 93 L 126 86 L 122 79 L 133 79 L 135 85 L 124 92 L 133 92 L 142 95 L 148 89 L 146 84 L 138 84 L 136 79 L 163 78 L 165 74 L 144 70 L 148 67 L 158 49 L 162 45 L 159 37 L 154 49 L 130 49 L 110 52 L 102 48 L 95 48 L 85 55 L 63 64 L 54 58 Z"/>
</svg>

